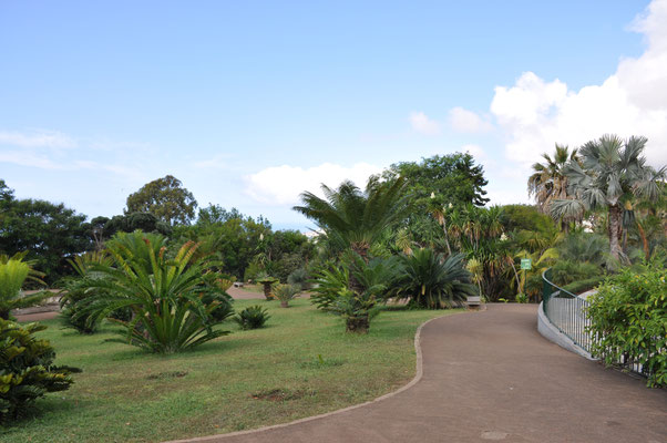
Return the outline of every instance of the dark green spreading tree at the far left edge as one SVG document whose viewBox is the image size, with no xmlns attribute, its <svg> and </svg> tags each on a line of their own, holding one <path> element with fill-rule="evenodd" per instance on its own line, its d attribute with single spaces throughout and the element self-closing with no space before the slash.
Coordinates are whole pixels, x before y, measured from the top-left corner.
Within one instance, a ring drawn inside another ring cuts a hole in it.
<svg viewBox="0 0 667 443">
<path fill-rule="evenodd" d="M 92 247 L 85 215 L 63 204 L 14 199 L 11 193 L 0 200 L 0 251 L 7 255 L 29 251 L 27 259 L 44 272 L 47 282 L 66 275 L 66 259 Z"/>
</svg>

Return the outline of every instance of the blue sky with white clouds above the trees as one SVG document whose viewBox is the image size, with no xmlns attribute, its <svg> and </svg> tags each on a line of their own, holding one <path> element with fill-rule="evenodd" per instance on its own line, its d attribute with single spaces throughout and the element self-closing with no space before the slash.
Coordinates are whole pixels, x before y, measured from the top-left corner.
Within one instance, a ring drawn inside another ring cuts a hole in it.
<svg viewBox="0 0 667 443">
<path fill-rule="evenodd" d="M 167 174 L 201 207 L 312 223 L 304 190 L 470 152 L 529 203 L 554 144 L 667 164 L 667 0 L 0 0 L 0 178 L 89 217 Z"/>
</svg>

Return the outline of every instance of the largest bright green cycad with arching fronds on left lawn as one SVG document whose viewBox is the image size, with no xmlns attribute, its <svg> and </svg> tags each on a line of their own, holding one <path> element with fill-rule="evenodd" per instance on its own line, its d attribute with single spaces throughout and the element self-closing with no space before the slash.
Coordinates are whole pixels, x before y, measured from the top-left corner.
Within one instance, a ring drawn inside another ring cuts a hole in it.
<svg viewBox="0 0 667 443">
<path fill-rule="evenodd" d="M 228 333 L 213 329 L 219 321 L 212 312 L 219 301 L 203 301 L 224 295 L 216 284 L 219 276 L 211 271 L 218 264 L 197 257 L 192 241 L 168 258 L 165 243 L 154 234 L 120 234 L 107 241 L 113 264 L 93 265 L 101 278 L 86 276 L 79 286 L 94 291 L 81 301 L 91 322 L 129 308 L 131 320 L 114 320 L 125 329 L 122 341 L 157 353 L 183 351 Z"/>
</svg>

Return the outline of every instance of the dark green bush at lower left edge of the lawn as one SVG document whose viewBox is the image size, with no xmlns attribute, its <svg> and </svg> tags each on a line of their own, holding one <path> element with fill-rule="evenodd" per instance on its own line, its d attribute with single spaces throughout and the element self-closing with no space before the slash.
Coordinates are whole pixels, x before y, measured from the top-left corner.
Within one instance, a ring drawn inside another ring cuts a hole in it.
<svg viewBox="0 0 667 443">
<path fill-rule="evenodd" d="M 0 319 L 0 423 L 20 419 L 37 399 L 73 383 L 70 373 L 79 370 L 53 365 L 49 341 L 33 337 L 44 329 Z"/>
</svg>

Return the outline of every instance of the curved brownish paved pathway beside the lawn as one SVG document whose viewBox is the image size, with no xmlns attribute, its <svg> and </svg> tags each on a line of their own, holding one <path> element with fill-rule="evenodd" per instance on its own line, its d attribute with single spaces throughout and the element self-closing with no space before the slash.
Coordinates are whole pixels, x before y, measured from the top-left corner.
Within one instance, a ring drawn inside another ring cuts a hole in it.
<svg viewBox="0 0 667 443">
<path fill-rule="evenodd" d="M 259 432 L 246 442 L 667 442 L 667 390 L 569 353 L 536 306 L 492 305 L 421 332 L 423 377 L 386 400 Z"/>
</svg>

